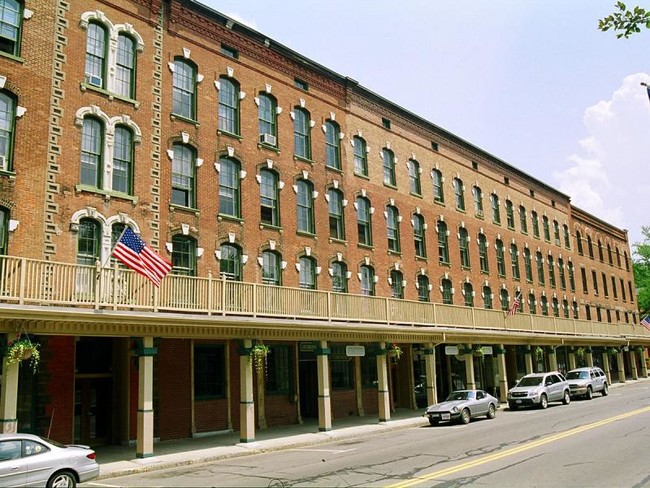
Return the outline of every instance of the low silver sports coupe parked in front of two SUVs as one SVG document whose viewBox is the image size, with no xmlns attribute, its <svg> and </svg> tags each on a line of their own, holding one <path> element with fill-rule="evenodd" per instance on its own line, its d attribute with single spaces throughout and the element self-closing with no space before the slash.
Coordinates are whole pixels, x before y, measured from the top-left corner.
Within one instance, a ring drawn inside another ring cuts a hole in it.
<svg viewBox="0 0 650 488">
<path fill-rule="evenodd" d="M 482 415 L 493 419 L 497 408 L 499 400 L 483 390 L 457 390 L 444 402 L 427 407 L 424 415 L 429 418 L 431 425 L 455 420 L 468 424 L 471 419 Z"/>
</svg>

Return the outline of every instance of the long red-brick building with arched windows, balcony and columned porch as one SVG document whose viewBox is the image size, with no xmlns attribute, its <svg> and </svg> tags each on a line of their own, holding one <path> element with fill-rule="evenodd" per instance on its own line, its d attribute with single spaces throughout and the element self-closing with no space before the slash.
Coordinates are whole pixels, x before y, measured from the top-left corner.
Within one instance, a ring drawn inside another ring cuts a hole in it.
<svg viewBox="0 0 650 488">
<path fill-rule="evenodd" d="M 627 233 L 570 196 L 193 0 L 0 7 L 0 324 L 41 352 L 5 355 L 5 431 L 144 457 L 647 375 Z"/>
</svg>

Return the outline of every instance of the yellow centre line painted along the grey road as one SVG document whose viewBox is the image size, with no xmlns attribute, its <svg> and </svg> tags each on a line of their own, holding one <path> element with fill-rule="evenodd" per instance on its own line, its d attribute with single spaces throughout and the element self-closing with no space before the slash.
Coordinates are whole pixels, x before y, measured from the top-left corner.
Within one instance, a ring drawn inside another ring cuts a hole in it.
<svg viewBox="0 0 650 488">
<path fill-rule="evenodd" d="M 497 461 L 499 459 L 502 459 L 504 457 L 512 456 L 514 454 L 519 454 L 520 452 L 528 451 L 530 449 L 534 449 L 539 446 L 543 446 L 544 444 L 548 444 L 550 442 L 555 442 L 559 441 L 561 439 L 564 439 L 566 437 L 570 437 L 572 435 L 580 434 L 582 432 L 586 432 L 591 429 L 595 429 L 596 427 L 602 427 L 603 425 L 610 424 L 612 422 L 616 422 L 617 420 L 623 420 L 628 417 L 632 417 L 634 415 L 639 415 L 642 413 L 650 412 L 650 407 L 644 407 L 644 408 L 639 408 L 638 410 L 633 410 L 631 412 L 623 413 L 620 415 L 616 415 L 615 417 L 610 417 L 608 419 L 604 420 L 599 420 L 598 422 L 593 422 L 591 424 L 587 425 L 582 425 L 580 427 L 575 427 L 571 430 L 567 430 L 565 432 L 559 432 L 557 434 L 550 435 L 548 437 L 544 437 L 543 439 L 538 439 L 536 441 L 529 442 L 527 444 L 522 444 L 521 446 L 513 447 L 510 449 L 506 449 L 505 451 L 501 452 L 496 452 L 494 454 L 488 454 L 487 456 L 480 457 L 478 459 L 474 459 L 472 461 L 468 461 L 463 464 L 459 464 L 457 466 L 452 466 L 450 468 L 446 469 L 441 469 L 439 471 L 435 471 L 433 473 L 429 473 L 424 476 L 418 476 L 416 478 L 410 479 L 408 481 L 403 481 L 400 483 L 396 483 L 394 485 L 389 485 L 388 488 L 406 488 L 408 486 L 415 486 L 420 483 L 424 483 L 425 481 L 431 481 L 434 478 L 438 478 L 440 476 L 447 476 L 450 474 L 457 473 L 459 471 L 463 471 L 466 469 L 474 468 L 476 466 L 480 466 L 482 464 L 490 463 L 492 461 Z"/>
</svg>

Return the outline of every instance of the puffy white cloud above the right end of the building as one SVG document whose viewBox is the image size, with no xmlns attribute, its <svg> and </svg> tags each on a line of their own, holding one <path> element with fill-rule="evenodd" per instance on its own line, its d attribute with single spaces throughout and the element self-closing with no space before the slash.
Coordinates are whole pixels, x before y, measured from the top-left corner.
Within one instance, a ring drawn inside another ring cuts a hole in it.
<svg viewBox="0 0 650 488">
<path fill-rule="evenodd" d="M 650 101 L 641 82 L 647 73 L 625 77 L 609 100 L 587 107 L 587 136 L 568 167 L 553 174 L 571 202 L 617 227 L 628 229 L 630 244 L 643 240 L 650 225 Z"/>
</svg>

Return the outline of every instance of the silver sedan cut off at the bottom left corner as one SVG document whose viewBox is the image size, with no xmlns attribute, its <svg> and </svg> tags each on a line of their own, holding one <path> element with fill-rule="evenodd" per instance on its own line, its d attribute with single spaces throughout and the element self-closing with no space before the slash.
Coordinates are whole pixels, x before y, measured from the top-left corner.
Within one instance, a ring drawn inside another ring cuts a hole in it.
<svg viewBox="0 0 650 488">
<path fill-rule="evenodd" d="M 0 434 L 0 486 L 75 487 L 99 476 L 95 451 L 32 434 Z"/>
</svg>

